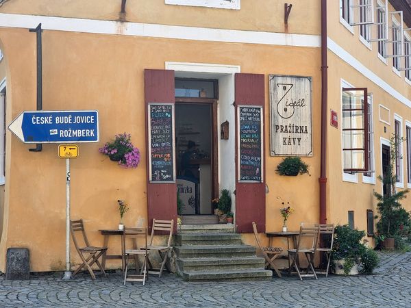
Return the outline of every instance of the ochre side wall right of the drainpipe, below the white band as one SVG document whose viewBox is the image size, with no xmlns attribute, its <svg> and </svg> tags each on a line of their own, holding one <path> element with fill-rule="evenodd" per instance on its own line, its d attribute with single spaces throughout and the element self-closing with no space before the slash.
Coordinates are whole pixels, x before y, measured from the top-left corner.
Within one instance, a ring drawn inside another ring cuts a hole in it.
<svg viewBox="0 0 411 308">
<path fill-rule="evenodd" d="M 342 166 L 342 149 L 341 149 L 341 79 L 344 79 L 349 84 L 358 88 L 368 88 L 369 93 L 373 96 L 373 141 L 374 141 L 374 159 L 375 159 L 375 177 L 382 175 L 382 157 L 380 138 L 389 140 L 394 132 L 394 114 L 398 114 L 403 118 L 403 135 L 406 131 L 406 120 L 411 120 L 410 107 L 397 101 L 386 91 L 379 88 L 369 79 L 366 79 L 362 74 L 358 73 L 351 66 L 342 62 L 334 53 L 329 52 L 329 70 L 328 70 L 328 104 L 329 109 L 338 112 L 339 127 L 338 129 L 328 125 L 328 155 L 327 166 L 329 178 L 329 207 L 328 217 L 330 222 L 346 224 L 348 222 L 347 211 L 354 211 L 355 227 L 360 230 L 366 230 L 366 209 L 373 209 L 374 214 L 377 214 L 376 198 L 373 192 L 382 193 L 382 185 L 378 179 L 375 179 L 375 184 L 363 183 L 362 174 L 358 174 L 358 183 L 349 183 L 343 181 L 343 166 Z M 401 84 L 400 82 L 398 84 Z M 403 83 L 405 84 L 405 83 Z M 406 95 L 406 92 L 403 92 Z M 390 125 L 379 120 L 379 104 L 382 104 L 390 109 Z M 329 120 L 328 122 L 329 123 Z M 386 133 L 384 133 L 386 127 Z M 403 144 L 403 175 L 405 186 L 407 187 L 406 177 L 406 142 Z M 400 189 L 400 188 L 398 188 Z M 410 198 L 404 199 L 401 204 L 407 211 L 411 210 Z M 371 238 L 369 238 L 371 240 Z"/>
</svg>

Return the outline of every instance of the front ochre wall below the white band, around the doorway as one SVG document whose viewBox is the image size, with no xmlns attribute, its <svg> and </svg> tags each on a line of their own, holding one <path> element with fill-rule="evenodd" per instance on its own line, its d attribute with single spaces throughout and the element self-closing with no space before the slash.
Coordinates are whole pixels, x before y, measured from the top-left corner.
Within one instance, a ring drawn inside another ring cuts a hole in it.
<svg viewBox="0 0 411 308">
<path fill-rule="evenodd" d="M 266 75 L 265 123 L 269 123 L 269 74 L 312 76 L 314 156 L 303 160 L 310 174 L 293 179 L 275 174 L 282 157 L 269 156 L 266 125 L 266 229 L 282 226 L 282 201 L 295 207 L 290 229 L 318 220 L 320 50 L 256 44 L 192 42 L 125 36 L 103 36 L 43 31 L 43 108 L 45 110 L 99 110 L 100 142 L 79 144 L 79 158 L 71 162 L 71 218 L 83 218 L 90 241 L 101 245 L 99 229 L 119 223 L 116 200 L 130 210 L 125 224 L 147 225 L 144 80 L 145 68 L 164 68 L 164 62 L 240 65 L 243 73 Z M 0 29 L 7 44 L 12 76 L 11 118 L 36 105 L 35 36 L 27 29 Z M 9 90 L 10 90 L 9 89 Z M 116 133 L 132 134 L 141 151 L 138 168 L 125 170 L 98 153 Z M 28 247 L 33 271 L 63 270 L 65 258 L 65 161 L 56 144 L 40 153 L 10 137 L 12 175 L 6 189 L 8 215 L 0 255 L 10 246 Z M 234 157 L 233 157 L 234 159 Z M 296 194 L 298 192 L 298 194 Z M 10 202 L 8 202 L 10 200 Z M 110 247 L 120 249 L 119 239 Z M 72 261 L 78 262 L 71 248 Z M 5 257 L 0 259 L 4 270 Z M 108 263 L 108 268 L 119 263 Z"/>
</svg>

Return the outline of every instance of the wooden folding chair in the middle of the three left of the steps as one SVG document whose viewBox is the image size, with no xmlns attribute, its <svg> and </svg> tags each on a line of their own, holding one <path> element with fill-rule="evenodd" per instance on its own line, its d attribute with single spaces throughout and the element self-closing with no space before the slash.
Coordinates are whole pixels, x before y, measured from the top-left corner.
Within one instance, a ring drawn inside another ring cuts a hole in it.
<svg viewBox="0 0 411 308">
<path fill-rule="evenodd" d="M 127 238 L 132 238 L 134 242 L 134 249 L 127 249 L 125 246 Z M 145 244 L 140 249 L 136 248 L 137 238 L 144 238 Z M 142 281 L 142 285 L 145 285 L 147 279 L 147 260 L 149 251 L 147 250 L 147 229 L 146 228 L 129 228 L 124 227 L 123 229 L 123 260 L 125 262 L 125 271 L 124 271 L 124 285 L 126 281 Z M 140 272 L 138 271 L 138 256 L 141 255 L 144 258 Z M 129 258 L 134 257 L 136 261 L 136 272 L 139 274 L 129 274 Z"/>
</svg>

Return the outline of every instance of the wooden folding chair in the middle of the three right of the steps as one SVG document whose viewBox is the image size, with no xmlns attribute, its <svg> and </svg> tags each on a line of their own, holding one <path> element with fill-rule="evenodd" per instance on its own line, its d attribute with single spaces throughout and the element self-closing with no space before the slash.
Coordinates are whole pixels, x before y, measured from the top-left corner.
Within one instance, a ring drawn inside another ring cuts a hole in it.
<svg viewBox="0 0 411 308">
<path fill-rule="evenodd" d="M 316 272 L 314 270 L 314 255 L 316 252 L 316 245 L 319 239 L 319 227 L 300 227 L 299 238 L 297 248 L 288 249 L 288 258 L 292 261 L 290 266 L 291 270 L 295 268 L 298 277 L 300 280 L 303 280 L 302 277 L 316 277 Z M 303 253 L 306 256 L 308 261 L 307 272 L 306 274 L 301 274 L 299 269 L 299 254 Z M 310 274 L 312 270 L 312 274 Z"/>
</svg>

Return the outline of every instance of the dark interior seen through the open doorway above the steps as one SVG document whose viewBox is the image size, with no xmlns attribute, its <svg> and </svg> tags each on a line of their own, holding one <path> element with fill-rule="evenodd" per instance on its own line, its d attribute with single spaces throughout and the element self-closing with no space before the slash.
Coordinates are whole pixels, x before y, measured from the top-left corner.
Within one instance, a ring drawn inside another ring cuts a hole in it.
<svg viewBox="0 0 411 308">
<path fill-rule="evenodd" d="M 176 103 L 177 192 L 183 215 L 212 214 L 213 108 Z"/>
</svg>

